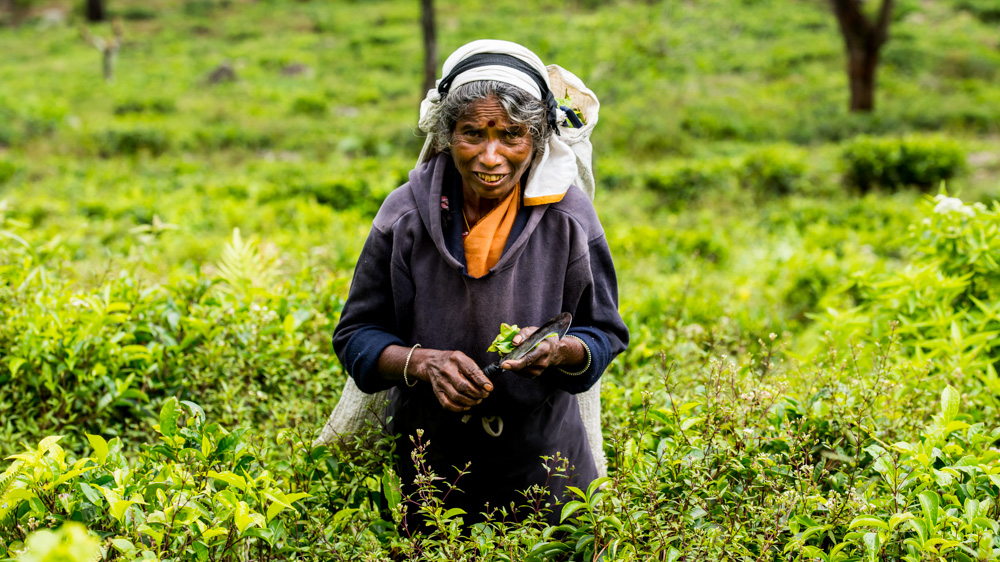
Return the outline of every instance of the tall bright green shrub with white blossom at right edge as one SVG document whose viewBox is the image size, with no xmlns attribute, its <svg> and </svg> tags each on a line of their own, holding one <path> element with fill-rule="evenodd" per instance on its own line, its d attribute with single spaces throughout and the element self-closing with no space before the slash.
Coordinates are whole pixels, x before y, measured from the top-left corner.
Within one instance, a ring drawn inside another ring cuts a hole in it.
<svg viewBox="0 0 1000 562">
<path fill-rule="evenodd" d="M 963 376 L 968 395 L 996 411 L 1000 205 L 938 195 L 923 211 L 909 232 L 914 258 L 901 271 L 856 275 L 850 282 L 856 306 L 821 315 L 819 328 L 838 339 L 877 338 L 898 322 L 900 345 L 917 365 Z"/>
</svg>

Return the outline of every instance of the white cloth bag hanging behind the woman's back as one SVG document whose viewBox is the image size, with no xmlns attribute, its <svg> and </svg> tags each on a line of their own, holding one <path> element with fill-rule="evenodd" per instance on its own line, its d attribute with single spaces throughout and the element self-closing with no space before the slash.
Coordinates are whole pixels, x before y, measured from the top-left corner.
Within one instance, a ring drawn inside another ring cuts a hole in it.
<svg viewBox="0 0 1000 562">
<path fill-rule="evenodd" d="M 593 200 L 596 182 L 594 181 L 593 152 L 590 134 L 597 125 L 598 112 L 601 104 L 594 92 L 590 91 L 583 81 L 572 72 L 550 64 L 546 66 L 552 93 L 557 99 L 569 98 L 570 107 L 577 109 L 583 115 L 584 125 L 580 128 L 567 126 L 560 119 L 559 136 L 569 145 L 576 156 L 577 175 L 574 184 L 583 190 Z M 421 156 L 421 159 L 423 156 Z M 418 165 L 420 161 L 418 160 Z M 511 319 L 516 320 L 516 319 Z M 598 476 L 607 476 L 608 465 L 604 456 L 604 437 L 601 433 L 601 381 L 600 379 L 586 392 L 576 395 L 580 405 L 580 417 L 587 432 L 587 442 L 597 465 Z M 329 443 L 340 436 L 348 436 L 363 430 L 367 424 L 379 423 L 380 410 L 388 401 L 387 391 L 375 394 L 361 392 L 354 379 L 347 377 L 340 400 L 323 426 L 322 432 L 313 445 Z"/>
</svg>

